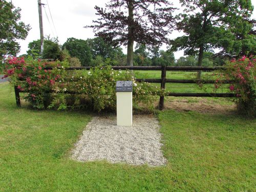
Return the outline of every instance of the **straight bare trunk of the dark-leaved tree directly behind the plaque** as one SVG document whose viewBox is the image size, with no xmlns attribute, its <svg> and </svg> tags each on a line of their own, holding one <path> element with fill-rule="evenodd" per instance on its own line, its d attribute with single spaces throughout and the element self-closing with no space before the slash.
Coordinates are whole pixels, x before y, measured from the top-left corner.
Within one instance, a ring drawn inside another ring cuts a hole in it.
<svg viewBox="0 0 256 192">
<path fill-rule="evenodd" d="M 133 15 L 133 8 L 134 8 L 134 0 L 130 0 L 128 3 L 128 42 L 127 42 L 127 66 L 133 66 L 133 45 L 134 45 L 134 15 Z"/>
</svg>

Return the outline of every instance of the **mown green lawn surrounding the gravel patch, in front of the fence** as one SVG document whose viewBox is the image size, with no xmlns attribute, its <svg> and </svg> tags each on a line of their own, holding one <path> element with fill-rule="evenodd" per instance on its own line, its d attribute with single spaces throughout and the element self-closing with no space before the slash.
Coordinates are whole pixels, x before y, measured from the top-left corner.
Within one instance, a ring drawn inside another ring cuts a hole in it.
<svg viewBox="0 0 256 192">
<path fill-rule="evenodd" d="M 0 84 L 0 191 L 255 191 L 256 120 L 159 112 L 162 167 L 81 163 L 70 150 L 93 114 L 16 108 Z"/>
</svg>

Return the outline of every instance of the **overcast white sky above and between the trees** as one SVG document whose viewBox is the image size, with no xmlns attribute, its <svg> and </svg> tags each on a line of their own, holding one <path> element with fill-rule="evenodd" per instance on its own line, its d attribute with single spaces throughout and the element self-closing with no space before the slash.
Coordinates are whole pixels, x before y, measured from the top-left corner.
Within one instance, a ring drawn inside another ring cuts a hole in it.
<svg viewBox="0 0 256 192">
<path fill-rule="evenodd" d="M 83 27 L 86 25 L 91 25 L 92 20 L 97 18 L 94 9 L 95 5 L 99 7 L 104 7 L 104 4 L 108 1 L 41 0 L 41 2 L 43 4 L 46 4 L 44 6 L 45 8 L 42 8 L 44 35 L 58 37 L 59 42 L 62 45 L 67 40 L 67 38 L 70 37 L 75 37 L 78 39 L 94 38 L 93 30 Z M 172 2 L 176 2 L 175 6 L 178 6 L 177 0 Z M 252 0 L 252 2 L 255 7 L 256 1 Z M 12 3 L 15 7 L 19 7 L 22 9 L 21 20 L 25 24 L 29 24 L 32 28 L 29 31 L 26 40 L 19 41 L 21 46 L 20 54 L 26 54 L 26 51 L 28 50 L 28 43 L 40 38 L 37 0 L 12 0 Z M 50 8 L 50 11 L 48 6 Z M 53 22 L 51 19 L 51 15 Z M 255 11 L 253 17 L 255 18 Z M 181 33 L 174 31 L 170 37 L 176 38 L 179 35 L 181 35 Z M 126 52 L 126 50 L 124 50 L 124 52 Z M 180 56 L 183 56 L 182 51 L 175 53 L 176 59 Z"/>
</svg>

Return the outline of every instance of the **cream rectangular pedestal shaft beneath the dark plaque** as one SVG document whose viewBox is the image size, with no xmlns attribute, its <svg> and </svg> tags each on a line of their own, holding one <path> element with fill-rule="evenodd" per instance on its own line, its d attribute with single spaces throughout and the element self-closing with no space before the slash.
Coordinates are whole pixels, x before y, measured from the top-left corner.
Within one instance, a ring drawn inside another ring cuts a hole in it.
<svg viewBox="0 0 256 192">
<path fill-rule="evenodd" d="M 116 93 L 117 125 L 133 125 L 133 92 Z"/>
</svg>

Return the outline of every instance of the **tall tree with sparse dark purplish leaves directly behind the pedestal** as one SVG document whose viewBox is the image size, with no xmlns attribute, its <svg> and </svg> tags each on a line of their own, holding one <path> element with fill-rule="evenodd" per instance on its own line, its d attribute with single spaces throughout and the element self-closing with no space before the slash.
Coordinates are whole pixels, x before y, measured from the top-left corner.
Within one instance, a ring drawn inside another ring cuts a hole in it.
<svg viewBox="0 0 256 192">
<path fill-rule="evenodd" d="M 159 45 L 173 28 L 174 8 L 167 0 L 110 0 L 105 9 L 95 6 L 100 16 L 86 26 L 114 46 L 127 46 L 127 65 L 133 66 L 134 41 Z"/>
</svg>

